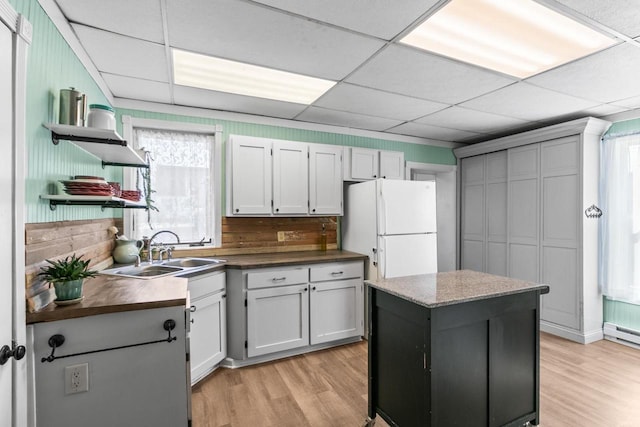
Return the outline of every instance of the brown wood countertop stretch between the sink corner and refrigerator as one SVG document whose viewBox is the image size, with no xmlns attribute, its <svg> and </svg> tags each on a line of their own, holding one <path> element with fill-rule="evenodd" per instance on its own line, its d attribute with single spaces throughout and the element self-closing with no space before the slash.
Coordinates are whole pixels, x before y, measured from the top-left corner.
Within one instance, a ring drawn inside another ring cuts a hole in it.
<svg viewBox="0 0 640 427">
<path fill-rule="evenodd" d="M 262 268 L 277 267 L 279 265 L 314 264 L 321 262 L 357 261 L 365 260 L 366 255 L 348 251 L 306 251 L 306 252 L 278 252 L 252 255 L 221 256 L 227 260 L 227 268 Z"/>
</svg>

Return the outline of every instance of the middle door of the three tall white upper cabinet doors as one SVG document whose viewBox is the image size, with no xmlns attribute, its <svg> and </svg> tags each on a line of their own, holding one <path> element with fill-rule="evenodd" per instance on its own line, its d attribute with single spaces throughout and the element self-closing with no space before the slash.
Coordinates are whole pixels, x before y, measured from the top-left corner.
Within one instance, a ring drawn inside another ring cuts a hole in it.
<svg viewBox="0 0 640 427">
<path fill-rule="evenodd" d="M 309 209 L 307 144 L 273 142 L 273 213 L 304 214 Z"/>
</svg>

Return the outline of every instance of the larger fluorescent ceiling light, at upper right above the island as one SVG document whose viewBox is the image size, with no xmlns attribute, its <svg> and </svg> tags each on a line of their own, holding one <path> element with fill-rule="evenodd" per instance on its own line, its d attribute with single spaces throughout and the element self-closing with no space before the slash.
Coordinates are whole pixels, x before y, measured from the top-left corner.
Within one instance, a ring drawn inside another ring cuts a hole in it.
<svg viewBox="0 0 640 427">
<path fill-rule="evenodd" d="M 451 0 L 400 41 L 519 78 L 616 43 L 533 0 Z"/>
</svg>

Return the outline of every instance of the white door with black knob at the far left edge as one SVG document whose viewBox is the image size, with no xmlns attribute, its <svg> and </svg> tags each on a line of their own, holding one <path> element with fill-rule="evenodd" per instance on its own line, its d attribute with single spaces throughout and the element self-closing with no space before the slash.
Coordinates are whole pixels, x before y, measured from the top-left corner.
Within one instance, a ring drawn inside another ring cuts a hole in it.
<svg viewBox="0 0 640 427">
<path fill-rule="evenodd" d="M 9 28 L 0 21 L 0 148 L 5 153 L 0 156 L 0 187 L 4 189 L 13 188 L 13 103 L 11 101 L 13 76 L 12 61 L 12 39 L 13 35 Z M 22 184 L 22 183 L 21 183 Z M 13 202 L 11 195 L 0 198 L 0 236 L 5 236 L 0 243 L 0 347 L 8 345 L 11 347 L 13 339 Z M 4 365 L 0 366 L 0 417 L 2 425 L 13 425 L 11 397 L 13 396 L 12 370 L 15 360 L 10 358 Z M 24 362 L 22 362 L 24 363 Z"/>
</svg>

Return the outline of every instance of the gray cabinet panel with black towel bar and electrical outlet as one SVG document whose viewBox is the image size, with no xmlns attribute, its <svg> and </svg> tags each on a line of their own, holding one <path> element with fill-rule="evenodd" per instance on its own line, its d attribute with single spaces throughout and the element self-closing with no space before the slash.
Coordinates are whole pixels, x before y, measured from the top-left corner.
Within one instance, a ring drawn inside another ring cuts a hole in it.
<svg viewBox="0 0 640 427">
<path fill-rule="evenodd" d="M 171 342 L 166 320 L 175 322 Z M 185 307 L 176 306 L 29 325 L 36 425 L 190 425 L 185 320 Z M 65 337 L 55 350 L 60 358 L 42 362 L 57 334 Z M 128 347 L 150 341 L 159 342 Z M 65 374 L 78 365 L 85 366 L 88 390 L 71 394 Z"/>
</svg>

